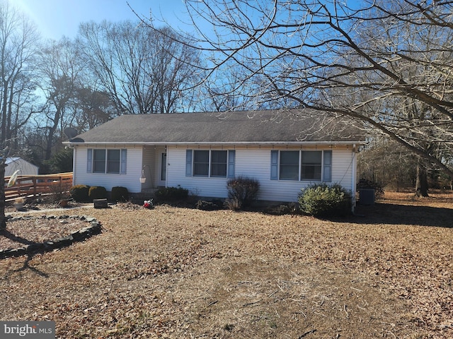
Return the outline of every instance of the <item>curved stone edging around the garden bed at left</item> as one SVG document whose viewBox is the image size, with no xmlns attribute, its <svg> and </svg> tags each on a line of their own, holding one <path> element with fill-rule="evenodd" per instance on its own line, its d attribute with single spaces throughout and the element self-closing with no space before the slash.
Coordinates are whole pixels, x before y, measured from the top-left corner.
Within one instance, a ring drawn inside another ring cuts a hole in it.
<svg viewBox="0 0 453 339">
<path fill-rule="evenodd" d="M 35 217 L 30 216 L 21 216 L 9 218 L 8 221 L 13 220 L 30 220 Z M 56 217 L 55 215 L 49 215 L 45 217 L 47 219 L 79 219 L 84 220 L 90 223 L 90 226 L 81 228 L 76 232 L 71 232 L 71 234 L 66 237 L 60 237 L 53 240 L 48 240 L 47 242 L 38 242 L 35 244 L 24 245 L 17 249 L 4 249 L 0 250 L 0 259 L 10 258 L 12 256 L 24 256 L 25 254 L 33 253 L 44 253 L 47 251 L 52 251 L 54 249 L 60 249 L 65 246 L 74 244 L 74 242 L 82 242 L 89 237 L 101 233 L 101 222 L 98 222 L 95 218 L 87 217 L 84 215 L 60 215 Z"/>
</svg>

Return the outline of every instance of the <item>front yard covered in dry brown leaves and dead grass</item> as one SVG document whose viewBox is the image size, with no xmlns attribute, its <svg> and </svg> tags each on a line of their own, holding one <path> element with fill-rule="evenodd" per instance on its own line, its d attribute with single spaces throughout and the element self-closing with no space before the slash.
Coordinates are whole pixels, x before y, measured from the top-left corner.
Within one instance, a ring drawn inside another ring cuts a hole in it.
<svg viewBox="0 0 453 339">
<path fill-rule="evenodd" d="M 386 193 L 341 220 L 52 214 L 93 216 L 103 232 L 1 260 L 2 321 L 52 320 L 57 338 L 453 338 L 453 194 Z"/>
</svg>

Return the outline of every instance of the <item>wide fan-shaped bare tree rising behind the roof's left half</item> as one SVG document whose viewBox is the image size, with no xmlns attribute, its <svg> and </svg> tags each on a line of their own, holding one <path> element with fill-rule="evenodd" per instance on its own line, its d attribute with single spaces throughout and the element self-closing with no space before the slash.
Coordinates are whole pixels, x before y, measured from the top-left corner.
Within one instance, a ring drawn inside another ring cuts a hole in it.
<svg viewBox="0 0 453 339">
<path fill-rule="evenodd" d="M 128 114 L 189 111 L 186 88 L 197 83 L 197 52 L 171 28 L 139 23 L 80 25 L 85 57 L 117 110 Z"/>
</svg>

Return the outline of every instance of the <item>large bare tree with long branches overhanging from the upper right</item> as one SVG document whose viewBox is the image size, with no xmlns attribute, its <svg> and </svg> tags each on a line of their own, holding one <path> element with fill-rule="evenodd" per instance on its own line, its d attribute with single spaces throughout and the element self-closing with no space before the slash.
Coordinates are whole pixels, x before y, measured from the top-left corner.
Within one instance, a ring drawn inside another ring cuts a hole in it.
<svg viewBox="0 0 453 339">
<path fill-rule="evenodd" d="M 348 115 L 453 177 L 426 147 L 453 141 L 453 1 L 347 2 L 186 0 L 198 38 L 181 42 L 211 52 L 210 76 L 241 67 L 257 105 Z"/>
</svg>

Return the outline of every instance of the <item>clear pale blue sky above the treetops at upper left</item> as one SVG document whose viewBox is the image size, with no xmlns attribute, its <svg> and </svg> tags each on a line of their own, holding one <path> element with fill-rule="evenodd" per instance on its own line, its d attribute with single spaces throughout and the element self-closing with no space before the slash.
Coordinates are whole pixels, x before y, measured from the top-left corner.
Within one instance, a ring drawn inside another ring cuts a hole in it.
<svg viewBox="0 0 453 339">
<path fill-rule="evenodd" d="M 183 0 L 10 0 L 38 26 L 42 37 L 59 40 L 73 38 L 79 24 L 87 21 L 113 22 L 137 20 L 136 14 L 149 18 L 166 18 L 173 28 L 183 27 Z M 129 4 L 129 5 L 128 5 Z"/>
</svg>

